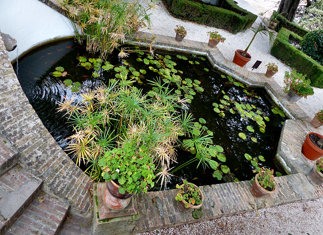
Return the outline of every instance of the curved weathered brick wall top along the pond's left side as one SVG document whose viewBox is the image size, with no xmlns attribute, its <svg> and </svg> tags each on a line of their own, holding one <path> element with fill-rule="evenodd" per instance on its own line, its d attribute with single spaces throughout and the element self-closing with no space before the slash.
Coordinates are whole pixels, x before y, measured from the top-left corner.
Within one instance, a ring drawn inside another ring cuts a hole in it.
<svg viewBox="0 0 323 235">
<path fill-rule="evenodd" d="M 29 104 L 1 36 L 0 131 L 19 151 L 21 164 L 44 181 L 46 193 L 69 202 L 74 213 L 92 214 L 91 179 L 65 154 Z"/>
</svg>

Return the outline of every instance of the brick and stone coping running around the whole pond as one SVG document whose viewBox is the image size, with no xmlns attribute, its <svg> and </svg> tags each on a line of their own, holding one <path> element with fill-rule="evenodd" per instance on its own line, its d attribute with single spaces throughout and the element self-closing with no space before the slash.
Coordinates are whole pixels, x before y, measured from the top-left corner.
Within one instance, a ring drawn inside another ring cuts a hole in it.
<svg viewBox="0 0 323 235">
<path fill-rule="evenodd" d="M 148 33 L 138 33 L 138 38 L 151 38 Z M 174 190 L 150 192 L 135 196 L 138 204 L 138 221 L 133 232 L 175 226 L 221 216 L 238 214 L 255 209 L 322 197 L 322 187 L 311 185 L 304 174 L 310 168 L 300 154 L 302 138 L 311 130 L 309 117 L 296 105 L 285 99 L 285 93 L 273 78 L 241 68 L 224 58 L 207 43 L 174 37 L 154 35 L 153 40 L 135 42 L 157 49 L 205 55 L 210 63 L 222 72 L 249 86 L 264 87 L 274 101 L 292 119 L 285 122 L 277 152 L 278 161 L 291 175 L 277 179 L 278 190 L 272 196 L 255 199 L 250 196 L 250 182 L 234 182 L 202 186 L 206 195 L 202 215 L 193 219 L 191 213 L 183 214 L 175 206 Z M 316 130 L 320 131 L 320 129 Z M 8 54 L 0 37 L 0 132 L 11 140 L 20 154 L 21 164 L 44 180 L 43 189 L 71 204 L 72 211 L 86 216 L 92 205 L 90 178 L 85 175 L 55 142 L 29 104 L 19 84 Z M 95 217 L 94 217 L 95 218 Z M 113 219 L 110 222 L 114 222 Z M 119 228 L 122 230 L 122 228 Z"/>
</svg>

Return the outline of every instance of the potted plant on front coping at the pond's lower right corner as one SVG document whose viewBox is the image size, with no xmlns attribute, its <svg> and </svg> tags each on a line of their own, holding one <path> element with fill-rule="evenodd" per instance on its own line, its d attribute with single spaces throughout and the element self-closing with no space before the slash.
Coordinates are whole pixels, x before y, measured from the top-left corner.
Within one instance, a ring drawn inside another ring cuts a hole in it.
<svg viewBox="0 0 323 235">
<path fill-rule="evenodd" d="M 276 182 L 274 178 L 274 170 L 270 170 L 264 167 L 256 168 L 253 173 L 257 173 L 252 179 L 253 184 L 251 188 L 251 194 L 260 198 L 262 196 L 273 194 L 276 191 Z"/>
</svg>

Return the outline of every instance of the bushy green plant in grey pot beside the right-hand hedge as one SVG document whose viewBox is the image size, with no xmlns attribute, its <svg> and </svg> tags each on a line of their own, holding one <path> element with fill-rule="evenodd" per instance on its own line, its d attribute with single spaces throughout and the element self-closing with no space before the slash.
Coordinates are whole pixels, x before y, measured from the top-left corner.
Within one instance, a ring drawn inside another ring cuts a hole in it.
<svg viewBox="0 0 323 235">
<path fill-rule="evenodd" d="M 313 88 L 310 86 L 310 80 L 305 79 L 306 74 L 297 73 L 296 70 L 293 70 L 290 74 L 288 71 L 285 71 L 284 76 L 284 92 L 287 93 L 287 100 L 290 102 L 297 102 L 302 97 L 307 98 L 314 94 Z"/>
</svg>

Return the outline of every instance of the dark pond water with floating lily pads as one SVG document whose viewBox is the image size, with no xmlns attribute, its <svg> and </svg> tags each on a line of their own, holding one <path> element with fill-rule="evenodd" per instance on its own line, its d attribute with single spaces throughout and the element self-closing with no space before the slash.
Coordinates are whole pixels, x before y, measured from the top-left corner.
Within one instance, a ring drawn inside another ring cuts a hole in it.
<svg viewBox="0 0 323 235">
<path fill-rule="evenodd" d="M 276 171 L 273 159 L 285 119 L 283 112 L 267 93 L 249 88 L 215 71 L 204 57 L 164 53 L 166 52 L 155 51 L 155 58 L 167 62 L 165 66 L 187 83 L 200 83 L 197 85 L 200 88 L 186 95 L 187 99 L 194 98 L 191 103 L 183 106 L 183 110 L 192 113 L 196 120 L 206 121 L 205 126 L 213 133 L 214 145 L 219 145 L 224 150 L 226 162 L 223 164 L 230 168 L 230 172 L 218 180 L 212 175 L 214 170 L 202 165 L 196 168 L 198 162 L 195 161 L 174 172 L 175 176 L 167 188 L 174 188 L 176 183 L 181 183 L 182 178 L 197 185 L 249 180 L 253 177 L 252 170 L 257 164 Z M 73 134 L 73 128 L 64 113 L 57 112 L 57 102 L 63 102 L 64 98 L 77 93 L 72 92 L 73 86 L 67 86 L 64 80 L 78 81 L 82 85 L 79 88 L 76 85 L 74 89 L 86 90 L 115 79 L 120 72 L 118 69 L 118 72 L 113 69 L 99 69 L 95 72 L 93 66 L 87 69 L 86 66 L 80 66 L 82 57 L 79 56 L 97 58 L 95 55 L 87 55 L 73 40 L 64 40 L 42 46 L 19 60 L 18 79 L 21 86 L 43 124 L 63 150 L 68 145 L 66 138 Z M 117 54 L 109 58 L 109 62 L 116 67 L 123 66 L 126 70 L 132 67 L 138 71 L 138 74 L 131 73 L 130 69 L 129 76 L 136 75 L 134 78 L 139 81 L 136 86 L 146 92 L 151 88 L 146 80 L 164 78 L 158 74 L 160 68 L 153 61 L 155 60 L 146 52 L 130 53 L 125 59 L 119 59 Z M 68 75 L 53 76 L 57 67 L 64 67 Z M 93 72 L 98 75 L 93 76 Z M 174 83 L 170 83 L 170 86 L 176 89 Z M 179 165 L 194 158 L 189 151 L 180 148 L 177 148 L 177 155 Z M 81 165 L 81 168 L 84 170 L 85 166 Z"/>
</svg>

